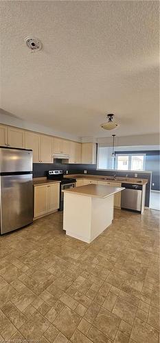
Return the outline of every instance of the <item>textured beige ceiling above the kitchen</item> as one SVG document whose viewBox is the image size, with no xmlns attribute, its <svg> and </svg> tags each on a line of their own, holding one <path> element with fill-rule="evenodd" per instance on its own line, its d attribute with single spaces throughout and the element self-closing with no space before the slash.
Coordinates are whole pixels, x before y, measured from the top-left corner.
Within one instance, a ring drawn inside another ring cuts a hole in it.
<svg viewBox="0 0 160 343">
<path fill-rule="evenodd" d="M 158 132 L 158 1 L 1 1 L 1 108 L 73 133 Z M 42 40 L 32 53 L 26 36 Z M 152 123 L 150 122 L 152 118 Z"/>
</svg>

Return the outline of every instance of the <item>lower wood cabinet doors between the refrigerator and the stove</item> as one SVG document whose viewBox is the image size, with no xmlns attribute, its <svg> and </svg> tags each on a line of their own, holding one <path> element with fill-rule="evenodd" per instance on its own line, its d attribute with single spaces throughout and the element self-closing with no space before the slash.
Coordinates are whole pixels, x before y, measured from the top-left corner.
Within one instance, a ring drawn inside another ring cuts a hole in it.
<svg viewBox="0 0 160 343">
<path fill-rule="evenodd" d="M 34 218 L 43 217 L 59 209 L 60 184 L 34 186 Z"/>
</svg>

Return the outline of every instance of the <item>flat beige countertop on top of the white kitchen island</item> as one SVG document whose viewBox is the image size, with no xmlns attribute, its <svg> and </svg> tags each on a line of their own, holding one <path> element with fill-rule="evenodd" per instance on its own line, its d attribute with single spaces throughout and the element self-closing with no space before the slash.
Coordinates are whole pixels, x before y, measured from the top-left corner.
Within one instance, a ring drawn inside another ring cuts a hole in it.
<svg viewBox="0 0 160 343">
<path fill-rule="evenodd" d="M 103 185 L 85 185 L 76 188 L 65 189 L 64 193 L 75 193 L 80 196 L 90 196 L 93 198 L 107 198 L 113 194 L 123 191 L 124 187 L 108 187 Z"/>
</svg>

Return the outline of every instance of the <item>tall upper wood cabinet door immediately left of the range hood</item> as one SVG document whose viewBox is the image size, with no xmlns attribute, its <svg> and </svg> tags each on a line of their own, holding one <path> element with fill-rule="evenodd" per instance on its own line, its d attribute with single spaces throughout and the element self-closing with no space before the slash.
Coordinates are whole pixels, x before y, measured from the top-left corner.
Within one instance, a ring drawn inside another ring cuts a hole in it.
<svg viewBox="0 0 160 343">
<path fill-rule="evenodd" d="M 41 162 L 52 163 L 52 137 L 41 134 Z"/>
</svg>

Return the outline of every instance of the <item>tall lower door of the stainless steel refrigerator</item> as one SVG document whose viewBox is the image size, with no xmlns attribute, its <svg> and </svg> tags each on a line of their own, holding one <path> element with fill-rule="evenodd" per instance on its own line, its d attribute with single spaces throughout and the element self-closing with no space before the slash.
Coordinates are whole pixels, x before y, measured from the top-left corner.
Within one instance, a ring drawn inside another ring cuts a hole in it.
<svg viewBox="0 0 160 343">
<path fill-rule="evenodd" d="M 1 176 L 1 234 L 33 221 L 32 174 Z"/>
</svg>

